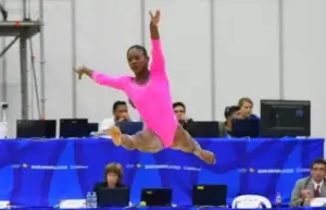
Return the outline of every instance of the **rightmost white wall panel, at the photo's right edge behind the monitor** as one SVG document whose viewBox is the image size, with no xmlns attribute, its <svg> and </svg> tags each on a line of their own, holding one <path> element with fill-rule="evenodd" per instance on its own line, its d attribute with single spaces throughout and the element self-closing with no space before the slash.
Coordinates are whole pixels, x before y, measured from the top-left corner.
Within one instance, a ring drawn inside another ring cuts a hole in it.
<svg viewBox="0 0 326 210">
<path fill-rule="evenodd" d="M 325 136 L 325 0 L 285 1 L 285 97 L 312 101 L 312 134 Z"/>
</svg>

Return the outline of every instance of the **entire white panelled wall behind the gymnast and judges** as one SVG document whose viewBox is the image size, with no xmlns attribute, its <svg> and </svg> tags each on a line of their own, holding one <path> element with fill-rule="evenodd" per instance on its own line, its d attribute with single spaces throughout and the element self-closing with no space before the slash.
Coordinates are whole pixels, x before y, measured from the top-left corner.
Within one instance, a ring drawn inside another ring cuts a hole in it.
<svg viewBox="0 0 326 210">
<path fill-rule="evenodd" d="M 32 1 L 35 4 L 32 13 L 37 17 L 38 0 Z M 71 118 L 71 2 L 45 2 L 47 118 Z M 326 1 L 283 2 L 284 95 L 286 99 L 312 100 L 312 134 L 325 136 L 326 118 L 322 109 L 326 106 L 326 85 L 322 79 L 326 65 L 323 12 Z M 242 96 L 253 99 L 254 111 L 259 113 L 260 99 L 280 96 L 278 0 L 214 0 L 214 4 L 210 0 L 77 0 L 76 3 L 77 63 L 111 75 L 130 73 L 126 64 L 129 46 L 146 45 L 150 51 L 147 12 L 161 9 L 161 34 L 173 98 L 184 101 L 197 120 L 211 120 L 214 113 L 215 119 L 223 119 L 224 108 Z M 211 7 L 214 7 L 213 28 Z M 141 12 L 145 12 L 145 27 Z M 39 61 L 37 36 L 34 46 Z M 11 124 L 21 115 L 17 52 L 16 45 L 7 54 Z M 215 66 L 213 78 L 212 66 Z M 85 78 L 77 83 L 77 116 L 100 121 L 110 115 L 112 103 L 118 99 L 125 100 L 126 96 Z M 35 101 L 30 101 L 30 111 L 36 118 Z"/>
</svg>

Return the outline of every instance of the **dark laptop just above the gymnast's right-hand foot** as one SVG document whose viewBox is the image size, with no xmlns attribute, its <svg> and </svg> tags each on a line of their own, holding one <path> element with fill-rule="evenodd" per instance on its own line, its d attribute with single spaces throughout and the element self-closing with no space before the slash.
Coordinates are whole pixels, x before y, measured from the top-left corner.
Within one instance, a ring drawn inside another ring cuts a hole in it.
<svg viewBox="0 0 326 210">
<path fill-rule="evenodd" d="M 220 137 L 218 122 L 208 121 L 208 122 L 192 122 L 188 132 L 192 137 L 198 138 L 216 138 Z"/>
</svg>

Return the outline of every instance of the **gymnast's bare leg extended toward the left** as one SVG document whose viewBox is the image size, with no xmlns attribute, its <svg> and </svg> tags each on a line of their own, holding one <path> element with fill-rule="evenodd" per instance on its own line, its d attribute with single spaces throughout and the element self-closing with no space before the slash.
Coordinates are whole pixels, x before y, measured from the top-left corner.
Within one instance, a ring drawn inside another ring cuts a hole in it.
<svg viewBox="0 0 326 210">
<path fill-rule="evenodd" d="M 108 134 L 115 146 L 123 146 L 129 150 L 138 149 L 146 152 L 158 152 L 164 148 L 161 139 L 149 129 L 143 129 L 129 136 L 122 134 L 117 126 L 112 126 Z"/>
</svg>

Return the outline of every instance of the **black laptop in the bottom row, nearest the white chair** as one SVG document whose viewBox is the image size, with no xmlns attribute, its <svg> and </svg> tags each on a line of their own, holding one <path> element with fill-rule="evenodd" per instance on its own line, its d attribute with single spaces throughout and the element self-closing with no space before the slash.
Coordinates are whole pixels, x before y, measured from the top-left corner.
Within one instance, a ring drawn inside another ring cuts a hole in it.
<svg viewBox="0 0 326 210">
<path fill-rule="evenodd" d="M 226 185 L 195 185 L 192 188 L 192 206 L 225 207 Z"/>
</svg>

